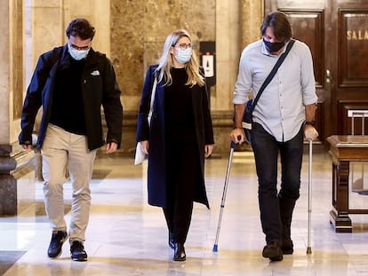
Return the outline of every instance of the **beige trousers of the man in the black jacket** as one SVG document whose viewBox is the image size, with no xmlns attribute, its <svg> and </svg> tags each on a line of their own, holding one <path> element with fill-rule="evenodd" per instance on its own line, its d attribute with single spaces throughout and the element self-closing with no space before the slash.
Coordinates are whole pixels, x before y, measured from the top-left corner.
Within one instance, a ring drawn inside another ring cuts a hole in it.
<svg viewBox="0 0 368 276">
<path fill-rule="evenodd" d="M 88 225 L 93 162 L 96 150 L 89 151 L 87 138 L 49 124 L 41 150 L 44 177 L 44 204 L 52 230 L 67 231 L 64 219 L 66 168 L 72 183 L 69 241 L 84 241 Z"/>
</svg>

